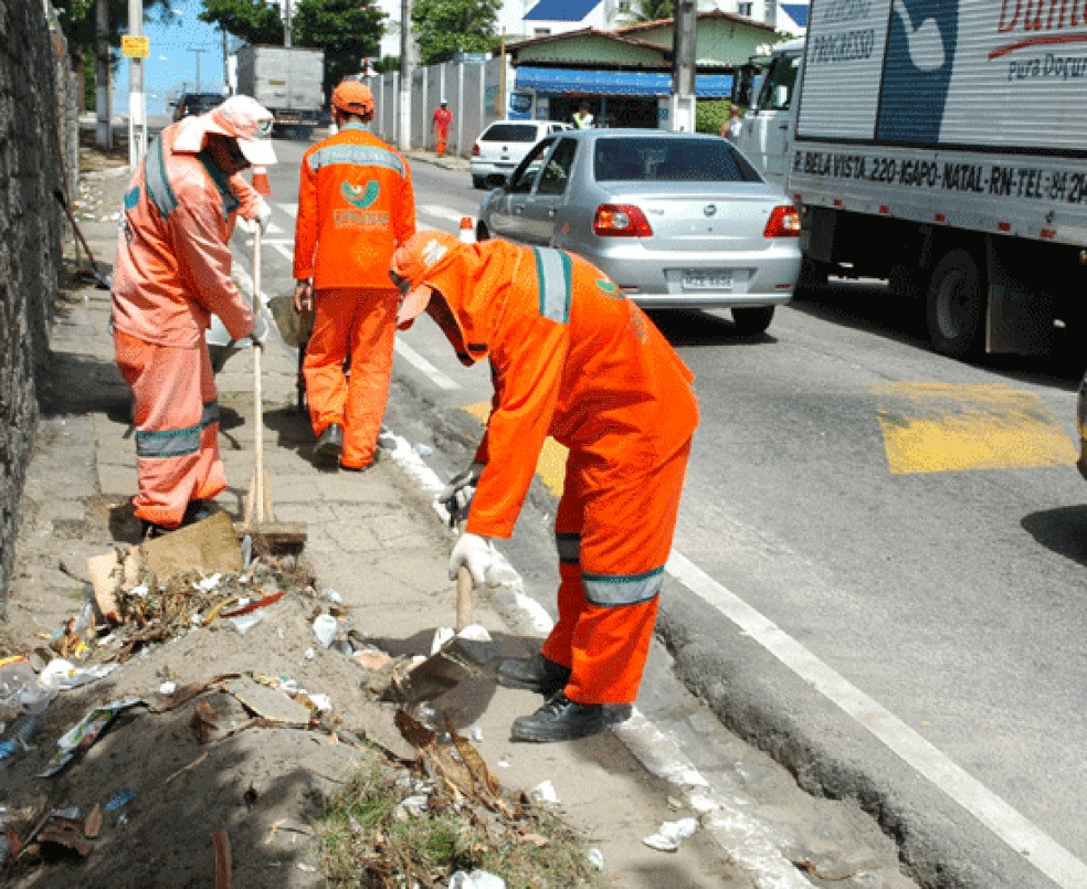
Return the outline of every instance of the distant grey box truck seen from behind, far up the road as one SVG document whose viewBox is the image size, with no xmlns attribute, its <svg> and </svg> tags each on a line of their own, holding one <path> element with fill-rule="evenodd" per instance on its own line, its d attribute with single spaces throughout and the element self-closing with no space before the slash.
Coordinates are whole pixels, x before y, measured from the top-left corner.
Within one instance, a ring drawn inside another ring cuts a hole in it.
<svg viewBox="0 0 1087 889">
<path fill-rule="evenodd" d="M 238 92 L 272 112 L 274 134 L 308 139 L 325 106 L 325 51 L 245 44 L 236 60 Z"/>
</svg>

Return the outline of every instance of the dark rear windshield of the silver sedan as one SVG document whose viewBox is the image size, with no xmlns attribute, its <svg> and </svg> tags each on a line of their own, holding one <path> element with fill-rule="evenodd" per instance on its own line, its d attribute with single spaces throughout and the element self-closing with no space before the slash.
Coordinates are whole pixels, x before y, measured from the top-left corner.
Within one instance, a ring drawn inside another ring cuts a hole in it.
<svg viewBox="0 0 1087 889">
<path fill-rule="evenodd" d="M 760 182 L 762 177 L 725 139 L 600 139 L 598 182 Z"/>
</svg>

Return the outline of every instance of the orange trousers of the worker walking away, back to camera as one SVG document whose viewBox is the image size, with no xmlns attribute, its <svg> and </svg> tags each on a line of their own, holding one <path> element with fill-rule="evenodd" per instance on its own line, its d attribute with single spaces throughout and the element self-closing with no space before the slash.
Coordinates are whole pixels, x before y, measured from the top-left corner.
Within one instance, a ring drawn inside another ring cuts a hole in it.
<svg viewBox="0 0 1087 889">
<path fill-rule="evenodd" d="M 392 375 L 397 297 L 393 289 L 357 287 L 316 293 L 314 332 L 302 366 L 309 421 L 316 435 L 330 423 L 344 427 L 345 466 L 366 466 L 378 446 Z"/>
</svg>

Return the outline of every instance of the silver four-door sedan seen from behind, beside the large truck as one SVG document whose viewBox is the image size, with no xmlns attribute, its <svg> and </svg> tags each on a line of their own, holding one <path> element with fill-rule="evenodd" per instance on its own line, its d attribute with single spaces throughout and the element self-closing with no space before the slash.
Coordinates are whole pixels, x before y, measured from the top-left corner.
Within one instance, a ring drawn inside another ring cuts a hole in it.
<svg viewBox="0 0 1087 889">
<path fill-rule="evenodd" d="M 800 274 L 800 218 L 730 142 L 656 129 L 547 137 L 483 200 L 479 240 L 568 250 L 642 308 L 728 308 L 769 327 Z"/>
</svg>

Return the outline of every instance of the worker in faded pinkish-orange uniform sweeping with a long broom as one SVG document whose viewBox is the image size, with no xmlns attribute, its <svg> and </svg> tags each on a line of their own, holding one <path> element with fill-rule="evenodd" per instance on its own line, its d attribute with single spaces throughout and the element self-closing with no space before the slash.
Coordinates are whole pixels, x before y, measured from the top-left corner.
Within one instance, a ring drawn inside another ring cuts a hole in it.
<svg viewBox="0 0 1087 889">
<path fill-rule="evenodd" d="M 239 214 L 267 224 L 271 210 L 241 171 L 275 163 L 272 113 L 249 96 L 166 127 L 125 194 L 113 318 L 117 366 L 133 390 L 135 515 L 158 537 L 213 511 L 226 487 L 219 403 L 204 331 L 218 315 L 234 339 L 263 342 L 231 279 Z"/>
</svg>

